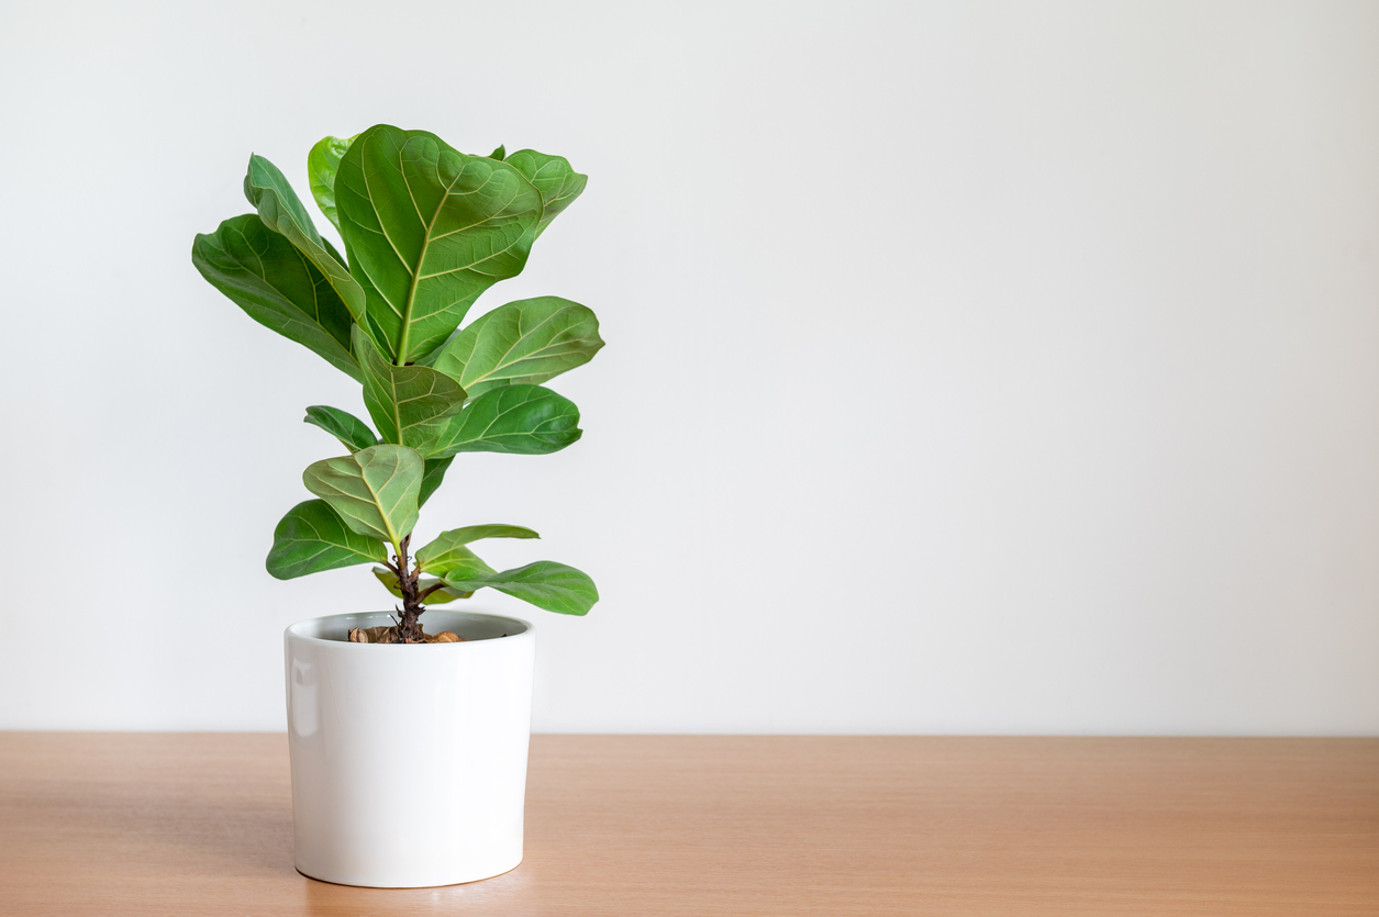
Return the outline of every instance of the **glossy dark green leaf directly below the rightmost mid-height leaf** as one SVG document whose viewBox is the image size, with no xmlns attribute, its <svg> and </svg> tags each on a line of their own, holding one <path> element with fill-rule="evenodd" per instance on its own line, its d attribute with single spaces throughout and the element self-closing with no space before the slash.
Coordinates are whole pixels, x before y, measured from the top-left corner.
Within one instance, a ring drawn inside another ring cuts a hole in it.
<svg viewBox="0 0 1379 917">
<path fill-rule="evenodd" d="M 432 455 L 558 452 L 583 434 L 579 408 L 539 385 L 509 385 L 479 396 L 445 419 Z"/>
</svg>

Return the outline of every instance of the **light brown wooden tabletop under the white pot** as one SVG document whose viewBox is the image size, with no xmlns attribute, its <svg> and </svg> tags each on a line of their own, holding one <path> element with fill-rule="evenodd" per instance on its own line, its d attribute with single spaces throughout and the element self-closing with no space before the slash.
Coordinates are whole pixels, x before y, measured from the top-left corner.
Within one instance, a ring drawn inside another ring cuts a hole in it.
<svg viewBox="0 0 1379 917">
<path fill-rule="evenodd" d="M 291 847 L 283 735 L 0 732 L 0 914 L 102 917 L 1372 917 L 1379 739 L 542 735 L 506 876 Z"/>
</svg>

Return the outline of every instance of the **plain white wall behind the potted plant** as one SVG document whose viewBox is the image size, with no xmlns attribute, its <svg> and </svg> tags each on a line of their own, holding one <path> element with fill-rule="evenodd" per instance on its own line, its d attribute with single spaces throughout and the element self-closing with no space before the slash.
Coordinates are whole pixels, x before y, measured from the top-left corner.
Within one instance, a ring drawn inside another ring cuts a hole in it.
<svg viewBox="0 0 1379 917">
<path fill-rule="evenodd" d="M 480 301 L 598 312 L 585 439 L 419 530 L 598 581 L 538 729 L 1379 734 L 1376 4 L 10 3 L 0 87 L 0 727 L 283 728 L 385 604 L 263 572 L 363 410 L 189 250 L 387 121 L 590 175 Z"/>
</svg>

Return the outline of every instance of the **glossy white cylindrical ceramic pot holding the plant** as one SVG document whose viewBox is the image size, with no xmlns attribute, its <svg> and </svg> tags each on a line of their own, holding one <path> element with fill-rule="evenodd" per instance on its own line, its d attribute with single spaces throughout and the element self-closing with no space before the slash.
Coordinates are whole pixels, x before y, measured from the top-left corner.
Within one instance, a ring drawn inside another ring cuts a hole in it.
<svg viewBox="0 0 1379 917">
<path fill-rule="evenodd" d="M 386 612 L 287 629 L 296 869 L 418 888 L 521 862 L 536 634 L 517 618 L 427 609 L 466 643 L 346 643 Z M 503 636 L 506 634 L 506 636 Z"/>
</svg>

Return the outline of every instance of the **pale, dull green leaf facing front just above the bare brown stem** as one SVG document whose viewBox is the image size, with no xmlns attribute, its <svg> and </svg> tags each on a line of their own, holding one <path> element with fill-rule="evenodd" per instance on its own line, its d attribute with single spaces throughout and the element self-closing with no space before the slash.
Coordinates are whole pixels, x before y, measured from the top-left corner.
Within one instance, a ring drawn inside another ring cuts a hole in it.
<svg viewBox="0 0 1379 917">
<path fill-rule="evenodd" d="M 372 445 L 309 465 L 302 483 L 350 530 L 396 547 L 416 524 L 422 456 L 405 445 Z"/>
</svg>

